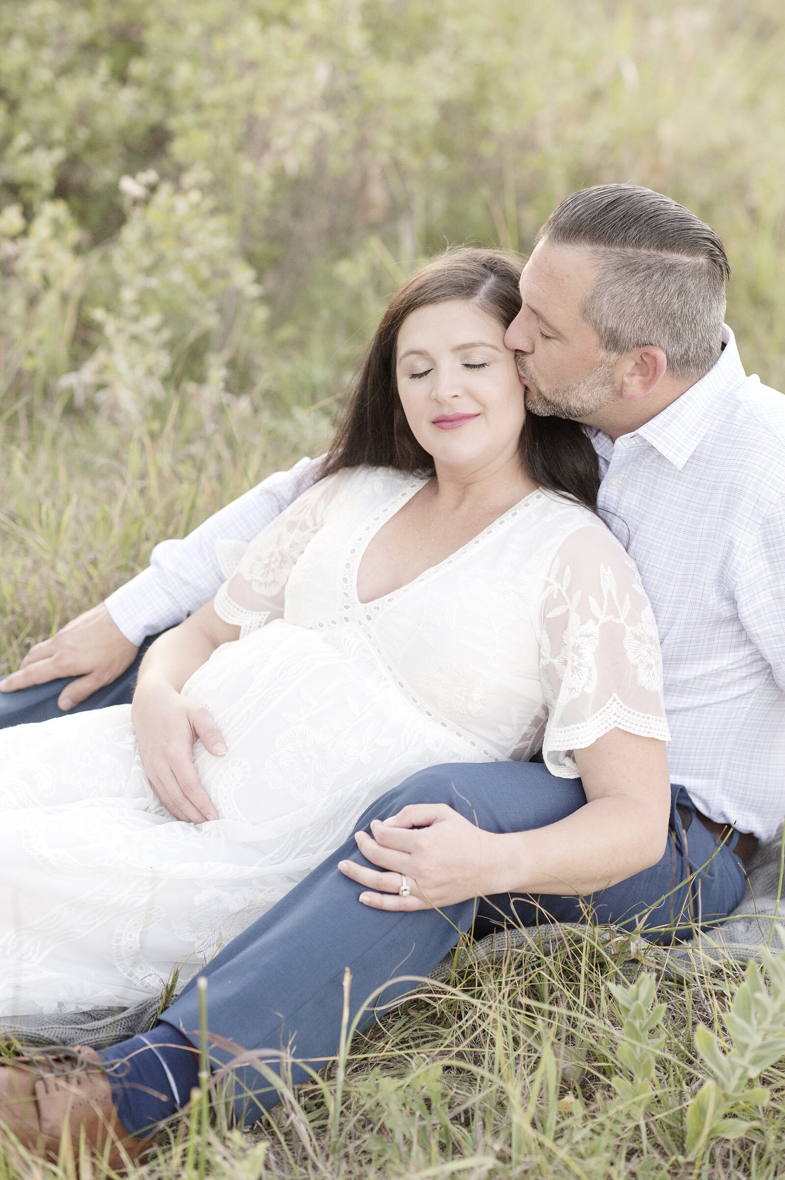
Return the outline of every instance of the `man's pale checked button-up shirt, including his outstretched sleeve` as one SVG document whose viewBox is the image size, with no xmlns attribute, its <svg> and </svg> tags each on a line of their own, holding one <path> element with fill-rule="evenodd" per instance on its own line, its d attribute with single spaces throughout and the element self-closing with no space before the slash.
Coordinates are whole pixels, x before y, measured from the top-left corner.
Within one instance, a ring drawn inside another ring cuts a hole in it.
<svg viewBox="0 0 785 1180">
<path fill-rule="evenodd" d="M 671 779 L 712 819 L 768 839 L 785 813 L 785 398 L 724 339 L 714 367 L 639 431 L 615 445 L 592 434 L 600 511 L 660 631 Z M 251 540 L 312 470 L 301 460 L 156 546 L 107 599 L 120 630 L 139 643 L 209 601 L 216 540 Z"/>
</svg>

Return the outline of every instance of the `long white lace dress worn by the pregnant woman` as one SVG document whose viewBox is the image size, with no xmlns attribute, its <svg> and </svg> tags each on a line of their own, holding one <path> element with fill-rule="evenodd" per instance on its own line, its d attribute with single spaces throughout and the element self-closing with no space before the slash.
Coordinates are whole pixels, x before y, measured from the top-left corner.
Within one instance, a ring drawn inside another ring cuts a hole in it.
<svg viewBox="0 0 785 1180">
<path fill-rule="evenodd" d="M 570 778 L 572 750 L 614 727 L 667 740 L 635 566 L 555 496 L 358 602 L 365 546 L 422 484 L 341 472 L 244 552 L 219 546 L 216 609 L 242 637 L 183 689 L 229 746 L 194 747 L 217 821 L 161 807 L 130 707 L 0 732 L 0 1014 L 133 1003 L 177 968 L 184 982 L 423 767 L 542 748 Z"/>
</svg>

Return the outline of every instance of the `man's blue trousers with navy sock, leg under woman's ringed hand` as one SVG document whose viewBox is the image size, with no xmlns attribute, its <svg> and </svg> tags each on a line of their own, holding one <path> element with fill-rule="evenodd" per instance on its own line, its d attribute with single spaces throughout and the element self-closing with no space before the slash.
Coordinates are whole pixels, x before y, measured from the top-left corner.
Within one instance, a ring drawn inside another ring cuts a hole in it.
<svg viewBox="0 0 785 1180">
<path fill-rule="evenodd" d="M 583 806 L 586 796 L 579 780 L 554 778 L 541 763 L 440 766 L 383 795 L 359 818 L 356 831 L 368 831 L 371 819 L 385 819 L 414 802 L 446 802 L 487 831 L 519 832 L 570 814 Z M 735 835 L 730 846 L 720 846 L 697 819 L 687 792 L 675 786 L 661 860 L 599 896 L 504 894 L 468 900 L 441 913 L 388 913 L 361 905 L 361 887 L 338 871 L 343 859 L 364 863 L 349 839 L 205 968 L 210 1031 L 246 1050 L 272 1050 L 268 1061 L 273 1069 L 275 1050 L 282 1047 L 319 1068 L 338 1047 L 347 966 L 352 974 L 354 1018 L 388 981 L 427 975 L 463 931 L 473 930 L 479 938 L 504 923 L 580 922 L 591 912 L 598 922 L 629 930 L 640 925 L 649 938 L 661 942 L 691 937 L 697 925 L 720 920 L 741 898 L 745 872 L 732 851 L 734 843 Z M 389 1003 L 414 985 L 389 983 L 377 1003 Z M 368 1011 L 361 1027 L 375 1018 Z M 130 1133 L 141 1134 L 187 1101 L 197 1084 L 190 1048 L 197 1028 L 192 981 L 152 1032 L 101 1054 L 106 1062 L 123 1062 L 124 1076 L 113 1082 L 113 1090 L 120 1121 Z M 233 1053 L 213 1042 L 211 1055 L 218 1066 Z M 275 1087 L 252 1067 L 236 1070 L 235 1076 L 240 1117 L 253 1121 L 260 1109 L 277 1103 Z M 295 1068 L 296 1082 L 305 1076 Z M 152 1092 L 164 1095 L 163 1100 L 152 1097 Z M 249 1093 L 255 1094 L 252 1101 Z"/>
</svg>

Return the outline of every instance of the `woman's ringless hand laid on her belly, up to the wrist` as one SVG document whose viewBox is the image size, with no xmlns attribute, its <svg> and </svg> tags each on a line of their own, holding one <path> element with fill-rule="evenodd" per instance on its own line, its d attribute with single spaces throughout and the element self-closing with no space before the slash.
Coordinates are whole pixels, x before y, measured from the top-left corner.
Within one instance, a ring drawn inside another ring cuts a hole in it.
<svg viewBox="0 0 785 1180">
<path fill-rule="evenodd" d="M 209 754 L 226 753 L 223 735 L 207 710 L 171 684 L 146 680 L 131 707 L 141 765 L 150 786 L 176 819 L 204 824 L 218 819 L 193 766 L 193 743 L 202 740 Z"/>
</svg>

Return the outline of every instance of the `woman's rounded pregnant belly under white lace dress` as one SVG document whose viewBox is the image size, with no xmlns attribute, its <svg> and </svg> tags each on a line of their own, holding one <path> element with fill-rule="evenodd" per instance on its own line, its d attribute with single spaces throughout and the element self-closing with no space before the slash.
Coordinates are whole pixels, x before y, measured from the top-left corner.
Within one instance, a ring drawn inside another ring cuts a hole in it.
<svg viewBox="0 0 785 1180">
<path fill-rule="evenodd" d="M 194 747 L 226 834 L 264 851 L 304 827 L 309 844 L 335 847 L 383 791 L 422 767 L 467 760 L 351 630 L 325 636 L 276 621 L 219 648 L 184 691 L 210 710 L 229 748 L 213 758 Z"/>
</svg>

